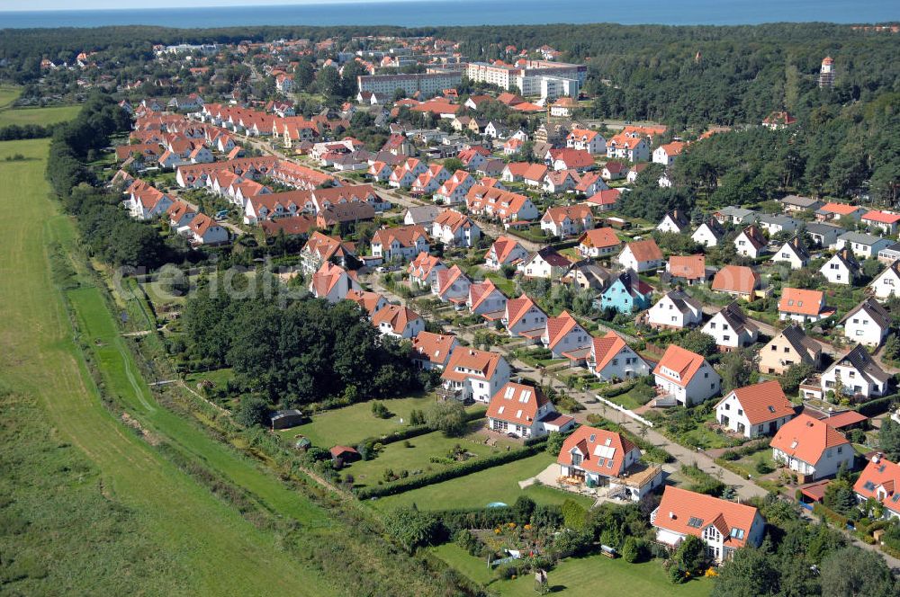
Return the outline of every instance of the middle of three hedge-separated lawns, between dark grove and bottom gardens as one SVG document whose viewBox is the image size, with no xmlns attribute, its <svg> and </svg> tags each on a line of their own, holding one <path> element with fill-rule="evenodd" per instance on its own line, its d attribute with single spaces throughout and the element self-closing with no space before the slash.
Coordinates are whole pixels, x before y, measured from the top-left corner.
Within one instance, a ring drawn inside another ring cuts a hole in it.
<svg viewBox="0 0 900 597">
<path fill-rule="evenodd" d="M 398 475 L 402 470 L 408 470 L 410 474 L 416 470 L 426 472 L 442 470 L 448 465 L 433 463 L 431 458 L 446 457 L 447 452 L 456 445 L 476 455 L 471 459 L 482 458 L 500 451 L 500 449 L 491 448 L 483 442 L 465 438 L 448 438 L 443 432 L 426 433 L 410 438 L 408 441 L 410 448 L 404 445 L 405 441 L 394 441 L 384 446 L 378 458 L 360 460 L 349 466 L 347 472 L 353 475 L 354 484 L 357 486 L 377 485 L 379 481 L 383 480 L 384 471 L 388 469 Z"/>
</svg>

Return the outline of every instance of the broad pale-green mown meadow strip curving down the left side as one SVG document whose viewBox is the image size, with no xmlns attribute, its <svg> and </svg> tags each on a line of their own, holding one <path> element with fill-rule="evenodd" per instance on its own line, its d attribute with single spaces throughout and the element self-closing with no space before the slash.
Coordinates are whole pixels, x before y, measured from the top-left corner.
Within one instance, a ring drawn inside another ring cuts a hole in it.
<svg viewBox="0 0 900 597">
<path fill-rule="evenodd" d="M 4 349 L 0 379 L 18 394 L 37 398 L 61 441 L 71 442 L 93 461 L 102 479 L 93 486 L 97 495 L 102 492 L 104 501 L 132 512 L 139 527 L 135 532 L 172 558 L 177 567 L 175 593 L 331 593 L 316 573 L 277 549 L 271 534 L 258 530 L 205 486 L 161 458 L 101 405 L 82 353 L 72 342 L 61 295 L 51 282 L 47 244 L 74 235 L 71 230 L 57 234 L 71 224 L 45 226 L 48 218 L 68 222 L 54 215 L 57 208 L 49 200 L 49 186 L 44 182 L 47 148 L 46 140 L 0 143 L 0 179 L 4 180 L 0 205 L 18 214 L 0 222 L 0 253 L 4 254 L 0 261 Z M 4 160 L 14 154 L 30 159 Z M 131 387 L 127 376 L 124 383 L 121 375 L 112 377 L 117 386 Z M 55 540 L 56 530 L 42 533 L 40 529 L 30 530 L 36 541 Z M 103 575 L 103 571 L 87 569 L 85 574 Z M 119 569 L 113 574 L 129 571 Z M 172 593 L 169 571 L 158 574 L 158 584 L 142 585 L 139 592 Z M 63 589 L 55 586 L 51 592 Z"/>
</svg>

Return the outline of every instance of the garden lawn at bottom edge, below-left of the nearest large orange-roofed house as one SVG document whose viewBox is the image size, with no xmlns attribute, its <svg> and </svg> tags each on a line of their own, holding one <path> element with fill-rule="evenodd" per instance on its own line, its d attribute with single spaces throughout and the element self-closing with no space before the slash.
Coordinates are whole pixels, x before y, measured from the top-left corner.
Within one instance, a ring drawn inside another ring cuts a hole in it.
<svg viewBox="0 0 900 597">
<path fill-rule="evenodd" d="M 708 578 L 671 584 L 660 560 L 628 564 L 621 557 L 609 559 L 600 555 L 563 560 L 550 570 L 547 580 L 551 593 L 563 597 L 594 597 L 598 594 L 706 597 L 713 588 L 712 580 Z M 534 590 L 534 575 L 491 583 L 491 593 L 499 595 L 530 595 Z"/>
</svg>

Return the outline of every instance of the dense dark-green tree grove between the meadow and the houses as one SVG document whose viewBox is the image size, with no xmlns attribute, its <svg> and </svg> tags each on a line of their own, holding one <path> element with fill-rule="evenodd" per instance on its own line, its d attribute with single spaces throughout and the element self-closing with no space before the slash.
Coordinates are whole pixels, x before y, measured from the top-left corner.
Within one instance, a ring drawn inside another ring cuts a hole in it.
<svg viewBox="0 0 900 597">
<path fill-rule="evenodd" d="M 188 298 L 186 348 L 194 359 L 233 367 L 240 389 L 269 404 L 325 397 L 349 404 L 421 388 L 409 345 L 380 336 L 355 303 L 290 297 L 266 277 L 233 280 L 247 285 L 238 292 L 219 277 Z M 266 289 L 284 304 L 266 297 Z"/>
</svg>

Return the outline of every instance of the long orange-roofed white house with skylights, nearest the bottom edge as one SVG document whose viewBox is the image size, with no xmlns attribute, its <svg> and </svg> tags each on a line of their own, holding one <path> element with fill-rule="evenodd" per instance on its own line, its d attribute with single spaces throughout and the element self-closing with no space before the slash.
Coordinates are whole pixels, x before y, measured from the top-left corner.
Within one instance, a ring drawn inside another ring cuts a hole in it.
<svg viewBox="0 0 900 597">
<path fill-rule="evenodd" d="M 707 547 L 706 556 L 717 563 L 734 557 L 744 546 L 760 547 L 766 521 L 759 510 L 744 503 L 666 486 L 659 507 L 650 514 L 656 540 L 678 548 L 693 535 Z"/>
</svg>

